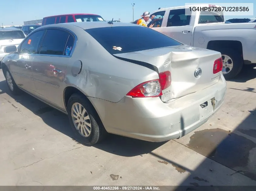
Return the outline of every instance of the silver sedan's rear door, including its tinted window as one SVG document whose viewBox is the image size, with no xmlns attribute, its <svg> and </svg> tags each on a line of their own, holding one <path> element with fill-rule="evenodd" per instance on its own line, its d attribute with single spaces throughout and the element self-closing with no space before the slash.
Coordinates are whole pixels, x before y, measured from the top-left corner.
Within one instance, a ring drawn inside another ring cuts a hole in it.
<svg viewBox="0 0 256 191">
<path fill-rule="evenodd" d="M 62 109 L 63 82 L 70 62 L 75 36 L 61 28 L 48 28 L 39 54 L 33 59 L 37 95 Z"/>
</svg>

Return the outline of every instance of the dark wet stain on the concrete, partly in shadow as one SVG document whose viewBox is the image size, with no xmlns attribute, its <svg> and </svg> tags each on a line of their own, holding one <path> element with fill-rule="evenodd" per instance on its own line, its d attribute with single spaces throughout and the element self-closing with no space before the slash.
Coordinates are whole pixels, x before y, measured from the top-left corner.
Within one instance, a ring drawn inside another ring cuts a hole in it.
<svg viewBox="0 0 256 191">
<path fill-rule="evenodd" d="M 223 129 L 204 129 L 191 135 L 189 148 L 256 180 L 256 143 Z M 252 168 L 253 167 L 253 168 Z"/>
</svg>

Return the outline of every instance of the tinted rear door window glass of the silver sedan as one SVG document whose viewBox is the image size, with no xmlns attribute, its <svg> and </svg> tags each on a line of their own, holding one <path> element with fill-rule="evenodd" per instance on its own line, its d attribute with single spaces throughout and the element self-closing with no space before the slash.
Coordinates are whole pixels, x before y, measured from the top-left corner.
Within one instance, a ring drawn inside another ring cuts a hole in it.
<svg viewBox="0 0 256 191">
<path fill-rule="evenodd" d="M 64 55 L 69 33 L 64 30 L 48 29 L 43 39 L 40 54 Z"/>
</svg>

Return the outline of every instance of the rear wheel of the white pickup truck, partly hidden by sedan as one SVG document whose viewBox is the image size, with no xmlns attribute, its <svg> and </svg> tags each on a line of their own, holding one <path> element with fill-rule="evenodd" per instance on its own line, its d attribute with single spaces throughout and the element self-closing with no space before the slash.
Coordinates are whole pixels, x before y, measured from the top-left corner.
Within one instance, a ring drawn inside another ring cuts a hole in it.
<svg viewBox="0 0 256 191">
<path fill-rule="evenodd" d="M 218 49 L 222 57 L 222 73 L 226 80 L 232 79 L 237 76 L 243 68 L 243 59 L 238 51 L 229 48 Z"/>
</svg>

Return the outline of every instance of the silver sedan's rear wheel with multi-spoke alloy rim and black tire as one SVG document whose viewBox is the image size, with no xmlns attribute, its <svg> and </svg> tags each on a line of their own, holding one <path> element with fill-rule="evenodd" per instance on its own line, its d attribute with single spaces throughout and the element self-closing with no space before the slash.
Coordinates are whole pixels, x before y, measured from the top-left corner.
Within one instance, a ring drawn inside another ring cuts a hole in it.
<svg viewBox="0 0 256 191">
<path fill-rule="evenodd" d="M 72 94 L 68 100 L 68 119 L 75 139 L 85 145 L 103 140 L 106 130 L 92 104 L 81 94 Z"/>
</svg>

